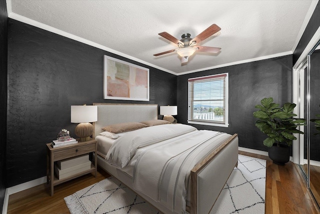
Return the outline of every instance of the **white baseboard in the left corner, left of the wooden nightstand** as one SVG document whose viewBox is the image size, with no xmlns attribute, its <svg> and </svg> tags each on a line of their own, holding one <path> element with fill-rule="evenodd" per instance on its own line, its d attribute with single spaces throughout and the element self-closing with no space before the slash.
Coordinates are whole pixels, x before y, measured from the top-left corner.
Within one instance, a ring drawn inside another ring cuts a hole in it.
<svg viewBox="0 0 320 214">
<path fill-rule="evenodd" d="M 10 194 L 14 194 L 16 192 L 23 191 L 25 189 L 40 185 L 42 183 L 46 183 L 46 176 L 37 178 L 35 180 L 30 180 L 28 182 L 21 183 L 21 184 L 15 185 L 15 186 L 11 186 L 9 188 L 6 188 L 5 193 L 4 193 L 2 214 L 6 214 L 6 212 L 7 212 Z"/>
</svg>

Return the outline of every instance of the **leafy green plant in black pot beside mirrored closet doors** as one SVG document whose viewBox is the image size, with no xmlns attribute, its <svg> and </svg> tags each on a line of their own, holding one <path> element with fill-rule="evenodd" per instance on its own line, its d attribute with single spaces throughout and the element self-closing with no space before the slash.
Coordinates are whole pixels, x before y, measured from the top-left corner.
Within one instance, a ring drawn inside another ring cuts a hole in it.
<svg viewBox="0 0 320 214">
<path fill-rule="evenodd" d="M 279 165 L 289 161 L 290 146 L 292 140 L 296 140 L 292 134 L 303 134 L 297 127 L 304 125 L 305 119 L 292 118 L 296 116 L 292 113 L 295 106 L 294 103 L 285 103 L 280 107 L 269 97 L 262 99 L 261 105 L 255 106 L 260 110 L 253 112 L 253 116 L 258 118 L 255 126 L 267 135 L 263 144 L 268 147 L 269 157 Z"/>
</svg>

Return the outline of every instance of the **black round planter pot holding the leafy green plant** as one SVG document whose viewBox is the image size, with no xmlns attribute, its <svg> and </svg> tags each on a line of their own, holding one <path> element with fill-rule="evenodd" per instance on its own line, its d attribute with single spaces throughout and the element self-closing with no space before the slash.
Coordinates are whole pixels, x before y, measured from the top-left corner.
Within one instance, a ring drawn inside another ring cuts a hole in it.
<svg viewBox="0 0 320 214">
<path fill-rule="evenodd" d="M 272 147 L 268 149 L 269 158 L 273 163 L 284 165 L 290 159 L 290 147 L 287 145 L 273 143 Z"/>
</svg>

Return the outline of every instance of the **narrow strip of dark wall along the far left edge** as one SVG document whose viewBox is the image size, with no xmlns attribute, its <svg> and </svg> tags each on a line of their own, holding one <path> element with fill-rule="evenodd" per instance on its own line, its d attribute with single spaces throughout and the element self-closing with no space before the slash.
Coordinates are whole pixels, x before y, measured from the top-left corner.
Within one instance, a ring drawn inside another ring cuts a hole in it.
<svg viewBox="0 0 320 214">
<path fill-rule="evenodd" d="M 0 0 L 0 212 L 5 194 L 7 21 L 5 0 Z"/>
</svg>

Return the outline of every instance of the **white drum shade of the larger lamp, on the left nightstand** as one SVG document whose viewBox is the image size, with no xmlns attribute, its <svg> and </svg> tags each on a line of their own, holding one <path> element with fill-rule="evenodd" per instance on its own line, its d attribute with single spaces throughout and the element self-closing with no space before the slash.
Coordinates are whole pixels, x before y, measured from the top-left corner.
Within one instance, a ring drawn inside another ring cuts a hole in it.
<svg viewBox="0 0 320 214">
<path fill-rule="evenodd" d="M 97 121 L 97 106 L 71 106 L 71 123 L 89 123 Z"/>
</svg>

